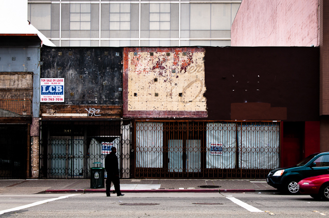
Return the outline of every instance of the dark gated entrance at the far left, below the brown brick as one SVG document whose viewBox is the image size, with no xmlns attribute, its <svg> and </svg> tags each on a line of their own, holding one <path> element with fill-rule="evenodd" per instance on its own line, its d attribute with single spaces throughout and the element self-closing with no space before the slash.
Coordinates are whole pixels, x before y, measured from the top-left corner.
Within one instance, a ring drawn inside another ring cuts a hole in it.
<svg viewBox="0 0 329 218">
<path fill-rule="evenodd" d="M 27 125 L 0 125 L 0 179 L 25 179 Z"/>
</svg>

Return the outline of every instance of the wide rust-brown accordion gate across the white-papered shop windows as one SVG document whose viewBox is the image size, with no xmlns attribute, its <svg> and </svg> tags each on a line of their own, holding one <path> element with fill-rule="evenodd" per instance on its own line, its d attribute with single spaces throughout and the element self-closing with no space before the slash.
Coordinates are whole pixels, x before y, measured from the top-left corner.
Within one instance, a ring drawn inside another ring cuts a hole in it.
<svg viewBox="0 0 329 218">
<path fill-rule="evenodd" d="M 264 178 L 280 122 L 136 122 L 136 178 Z"/>
</svg>

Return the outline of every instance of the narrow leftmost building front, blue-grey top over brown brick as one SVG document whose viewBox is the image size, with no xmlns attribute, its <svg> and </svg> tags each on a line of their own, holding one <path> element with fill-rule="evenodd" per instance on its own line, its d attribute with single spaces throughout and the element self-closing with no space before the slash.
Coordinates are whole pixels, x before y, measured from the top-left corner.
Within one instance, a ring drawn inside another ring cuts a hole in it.
<svg viewBox="0 0 329 218">
<path fill-rule="evenodd" d="M 41 40 L 22 34 L 0 41 L 0 178 L 38 178 Z"/>
</svg>

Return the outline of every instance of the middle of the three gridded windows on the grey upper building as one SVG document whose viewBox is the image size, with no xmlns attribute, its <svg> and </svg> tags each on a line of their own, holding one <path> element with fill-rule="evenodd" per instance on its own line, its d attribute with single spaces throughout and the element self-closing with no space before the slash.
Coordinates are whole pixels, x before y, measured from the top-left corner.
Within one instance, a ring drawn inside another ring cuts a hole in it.
<svg viewBox="0 0 329 218">
<path fill-rule="evenodd" d="M 109 6 L 109 30 L 130 30 L 130 4 Z"/>
</svg>

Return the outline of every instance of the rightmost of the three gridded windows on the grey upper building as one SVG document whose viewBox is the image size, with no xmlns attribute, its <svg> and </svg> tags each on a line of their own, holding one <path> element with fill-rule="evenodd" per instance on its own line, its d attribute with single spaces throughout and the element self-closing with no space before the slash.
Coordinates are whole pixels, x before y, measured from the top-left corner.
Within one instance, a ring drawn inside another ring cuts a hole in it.
<svg viewBox="0 0 329 218">
<path fill-rule="evenodd" d="M 170 30 L 170 4 L 150 4 L 150 30 Z"/>
</svg>

